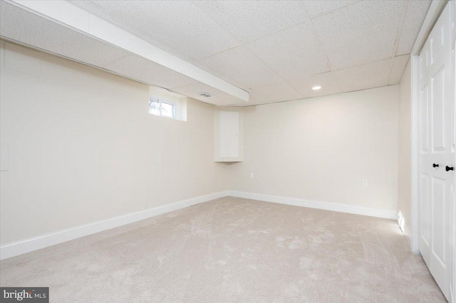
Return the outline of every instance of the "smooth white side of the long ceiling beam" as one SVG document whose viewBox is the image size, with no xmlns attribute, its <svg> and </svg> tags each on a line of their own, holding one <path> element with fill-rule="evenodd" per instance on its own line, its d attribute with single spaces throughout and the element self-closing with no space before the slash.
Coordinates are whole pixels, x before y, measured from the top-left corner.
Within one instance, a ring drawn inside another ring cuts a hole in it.
<svg viewBox="0 0 456 303">
<path fill-rule="evenodd" d="M 130 53 L 140 55 L 143 58 L 175 70 L 177 73 L 186 75 L 201 83 L 217 88 L 222 92 L 249 102 L 249 92 L 224 81 L 207 71 L 198 68 L 175 55 L 153 46 L 138 36 L 105 21 L 98 16 L 90 14 L 78 6 L 67 1 L 31 1 L 31 0 L 9 0 L 21 9 L 26 9 L 33 14 L 47 18 L 63 26 L 76 30 L 87 36 L 97 38 L 100 41 L 109 43 L 118 48 L 128 50 Z"/>
</svg>

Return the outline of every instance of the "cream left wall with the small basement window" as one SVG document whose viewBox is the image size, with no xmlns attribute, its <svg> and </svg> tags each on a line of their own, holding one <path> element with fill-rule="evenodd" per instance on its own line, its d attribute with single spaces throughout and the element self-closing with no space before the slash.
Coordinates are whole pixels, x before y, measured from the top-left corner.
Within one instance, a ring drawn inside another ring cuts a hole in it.
<svg viewBox="0 0 456 303">
<path fill-rule="evenodd" d="M 189 100 L 187 122 L 149 115 L 147 85 L 21 47 L 9 68 L 38 76 L 20 73 L 4 46 L 1 244 L 226 189 L 217 107 Z"/>
</svg>

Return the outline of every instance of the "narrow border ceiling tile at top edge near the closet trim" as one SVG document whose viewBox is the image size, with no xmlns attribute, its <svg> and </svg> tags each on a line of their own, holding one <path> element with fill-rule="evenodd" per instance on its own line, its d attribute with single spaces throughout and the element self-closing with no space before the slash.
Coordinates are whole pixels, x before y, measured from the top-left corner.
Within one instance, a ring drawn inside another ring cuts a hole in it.
<svg viewBox="0 0 456 303">
<path fill-rule="evenodd" d="M 404 55 L 412 51 L 430 3 L 430 0 L 412 0 L 408 2 L 396 55 Z"/>
</svg>

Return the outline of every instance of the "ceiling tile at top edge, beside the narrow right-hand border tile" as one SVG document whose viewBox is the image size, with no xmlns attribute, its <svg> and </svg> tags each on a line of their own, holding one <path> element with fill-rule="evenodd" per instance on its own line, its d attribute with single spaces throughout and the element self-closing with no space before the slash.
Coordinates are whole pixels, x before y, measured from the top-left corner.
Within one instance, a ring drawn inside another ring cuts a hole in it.
<svg viewBox="0 0 456 303">
<path fill-rule="evenodd" d="M 403 1 L 360 1 L 312 19 L 334 70 L 391 57 Z"/>
</svg>

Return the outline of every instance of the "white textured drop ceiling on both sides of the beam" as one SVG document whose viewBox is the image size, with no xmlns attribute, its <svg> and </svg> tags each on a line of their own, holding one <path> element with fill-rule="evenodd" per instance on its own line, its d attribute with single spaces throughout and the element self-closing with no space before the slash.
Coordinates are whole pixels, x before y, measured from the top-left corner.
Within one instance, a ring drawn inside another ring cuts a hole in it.
<svg viewBox="0 0 456 303">
<path fill-rule="evenodd" d="M 259 105 L 398 84 L 431 1 L 70 2 L 249 92 L 249 103 L 103 41 L 89 43 L 81 33 L 69 41 L 71 29 L 43 26 L 31 13 L 16 22 L 11 11 L 18 8 L 4 3 L 1 17 L 10 18 L 1 36 L 22 28 L 33 35 L 14 40 L 71 48 L 69 58 L 143 83 L 205 102 L 199 92 L 209 92 L 219 105 Z"/>
</svg>

